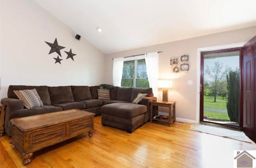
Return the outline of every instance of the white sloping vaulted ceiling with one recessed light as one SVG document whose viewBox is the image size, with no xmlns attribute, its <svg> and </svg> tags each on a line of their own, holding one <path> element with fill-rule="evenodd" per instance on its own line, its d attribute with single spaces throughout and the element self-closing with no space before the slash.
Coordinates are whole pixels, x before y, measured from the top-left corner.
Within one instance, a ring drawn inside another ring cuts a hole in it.
<svg viewBox="0 0 256 168">
<path fill-rule="evenodd" d="M 105 54 L 256 26 L 256 0 L 34 1 Z"/>
</svg>

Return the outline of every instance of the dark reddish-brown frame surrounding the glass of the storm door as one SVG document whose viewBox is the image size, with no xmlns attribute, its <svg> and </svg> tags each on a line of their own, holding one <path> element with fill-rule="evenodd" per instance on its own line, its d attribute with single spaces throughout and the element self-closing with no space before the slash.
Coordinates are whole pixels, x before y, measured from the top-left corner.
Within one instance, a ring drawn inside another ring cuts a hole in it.
<svg viewBox="0 0 256 168">
<path fill-rule="evenodd" d="M 227 49 L 222 49 L 222 50 L 212 50 L 212 51 L 205 51 L 205 52 L 201 52 L 201 56 L 200 56 L 200 88 L 201 88 L 201 84 L 202 84 L 202 88 L 204 88 L 204 60 L 202 59 L 202 57 L 205 54 L 212 54 L 212 53 L 220 53 L 220 52 L 232 52 L 232 51 L 239 51 L 239 70 L 240 70 L 240 74 L 239 74 L 239 126 L 238 128 L 242 128 L 243 127 L 243 66 L 244 66 L 244 50 L 243 47 L 236 47 L 236 48 L 227 48 Z M 204 89 L 202 89 L 202 91 L 200 91 L 200 122 L 204 122 L 204 100 L 203 100 L 203 96 L 204 96 Z M 202 112 L 202 113 L 201 113 Z M 206 122 L 206 123 L 212 123 L 212 124 L 216 124 L 216 125 L 222 125 L 222 126 L 230 126 L 228 124 L 218 124 L 216 122 Z M 230 126 L 230 127 L 236 127 L 236 126 Z"/>
</svg>

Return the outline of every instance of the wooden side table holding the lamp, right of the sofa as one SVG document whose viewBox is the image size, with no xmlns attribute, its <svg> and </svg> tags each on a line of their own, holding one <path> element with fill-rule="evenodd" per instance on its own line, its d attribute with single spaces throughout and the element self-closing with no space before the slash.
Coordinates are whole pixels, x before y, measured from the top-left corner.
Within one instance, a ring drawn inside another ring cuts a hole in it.
<svg viewBox="0 0 256 168">
<path fill-rule="evenodd" d="M 162 100 L 151 101 L 150 102 L 150 122 L 158 121 L 161 123 L 168 124 L 168 126 L 171 126 L 172 123 L 176 120 L 175 105 L 176 105 L 175 101 L 168 101 L 168 102 L 165 102 Z M 157 118 L 154 118 L 154 116 L 153 116 L 153 106 L 156 107 L 155 109 L 156 109 L 156 116 L 158 116 Z M 169 116 L 164 118 L 162 115 L 158 115 L 158 107 L 159 106 L 168 107 L 169 108 Z"/>
</svg>

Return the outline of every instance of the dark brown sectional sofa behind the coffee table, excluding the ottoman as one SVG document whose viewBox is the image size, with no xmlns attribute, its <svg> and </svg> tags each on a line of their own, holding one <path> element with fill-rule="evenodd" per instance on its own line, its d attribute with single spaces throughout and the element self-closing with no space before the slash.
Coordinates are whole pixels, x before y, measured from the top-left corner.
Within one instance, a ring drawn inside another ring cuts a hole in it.
<svg viewBox="0 0 256 168">
<path fill-rule="evenodd" d="M 44 106 L 36 108 L 25 108 L 24 103 L 18 99 L 14 90 L 36 89 Z M 143 115 L 144 123 L 150 117 L 149 102 L 156 97 L 153 96 L 152 88 L 126 88 L 114 86 L 110 90 L 110 100 L 98 99 L 99 86 L 23 86 L 10 85 L 8 88 L 8 98 L 2 98 L 1 103 L 6 104 L 4 129 L 8 136 L 11 136 L 10 119 L 44 114 L 69 109 L 80 109 L 101 114 L 101 107 L 112 103 L 130 103 L 136 98 L 138 93 L 147 93 L 148 97 L 142 98 L 141 104 L 146 106 L 146 113 Z M 128 104 L 127 104 L 128 105 Z M 143 124 L 144 124 L 143 123 Z M 117 128 L 119 128 L 117 126 Z M 121 128 L 123 129 L 123 128 Z M 124 128 L 125 129 L 125 128 Z M 134 128 L 132 128 L 134 130 Z"/>
</svg>

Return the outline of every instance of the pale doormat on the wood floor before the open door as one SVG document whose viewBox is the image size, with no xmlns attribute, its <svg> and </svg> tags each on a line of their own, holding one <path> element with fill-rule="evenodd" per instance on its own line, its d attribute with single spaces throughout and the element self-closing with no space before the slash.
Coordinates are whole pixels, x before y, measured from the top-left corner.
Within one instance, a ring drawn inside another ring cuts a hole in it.
<svg viewBox="0 0 256 168">
<path fill-rule="evenodd" d="M 206 134 L 212 134 L 216 136 L 222 136 L 225 138 L 252 143 L 252 140 L 250 140 L 250 138 L 248 138 L 248 136 L 246 136 L 244 132 L 241 131 L 235 131 L 226 128 L 218 128 L 215 126 L 206 126 L 202 124 L 191 124 L 189 129 L 193 131 L 203 132 Z"/>
</svg>

